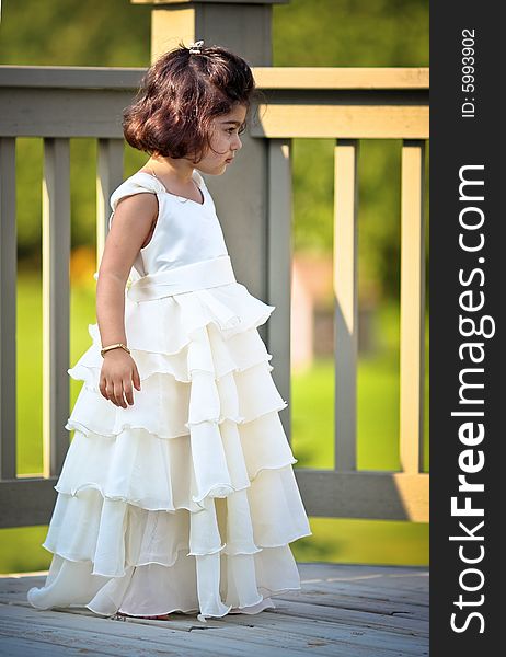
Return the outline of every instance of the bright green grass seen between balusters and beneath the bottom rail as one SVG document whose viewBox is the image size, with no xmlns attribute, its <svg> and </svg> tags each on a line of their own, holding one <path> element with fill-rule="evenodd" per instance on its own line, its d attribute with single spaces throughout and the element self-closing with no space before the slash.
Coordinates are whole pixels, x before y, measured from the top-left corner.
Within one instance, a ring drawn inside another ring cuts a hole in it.
<svg viewBox="0 0 506 657">
<path fill-rule="evenodd" d="M 71 292 L 73 364 L 90 346 L 88 324 L 95 322 L 94 284 Z M 387 307 L 378 316 L 378 353 L 358 366 L 358 466 L 399 468 L 399 315 Z M 428 346 L 428 345 L 427 345 Z M 426 349 L 428 351 L 428 349 Z M 20 274 L 18 287 L 18 463 L 19 474 L 42 471 L 42 298 L 41 279 Z M 428 373 L 428 372 L 427 372 Z M 428 377 L 427 377 L 428 379 Z M 70 380 L 70 407 L 81 382 Z M 290 403 L 292 449 L 297 466 L 332 468 L 334 370 L 332 360 L 317 360 L 294 374 Z M 426 399 L 427 391 L 426 391 Z M 428 408 L 425 427 L 428 465 Z M 338 563 L 428 563 L 428 525 L 383 520 L 312 518 L 312 537 L 291 543 L 298 561 Z M 51 555 L 41 543 L 47 526 L 0 530 L 0 572 L 47 569 Z"/>
</svg>

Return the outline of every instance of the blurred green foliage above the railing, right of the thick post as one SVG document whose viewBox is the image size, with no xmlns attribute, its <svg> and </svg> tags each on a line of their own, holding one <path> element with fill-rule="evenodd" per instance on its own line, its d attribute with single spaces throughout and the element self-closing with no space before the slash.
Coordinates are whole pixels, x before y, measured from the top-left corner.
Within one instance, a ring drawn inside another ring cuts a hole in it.
<svg viewBox="0 0 506 657">
<path fill-rule="evenodd" d="M 274 66 L 428 66 L 428 0 L 274 5 Z"/>
</svg>

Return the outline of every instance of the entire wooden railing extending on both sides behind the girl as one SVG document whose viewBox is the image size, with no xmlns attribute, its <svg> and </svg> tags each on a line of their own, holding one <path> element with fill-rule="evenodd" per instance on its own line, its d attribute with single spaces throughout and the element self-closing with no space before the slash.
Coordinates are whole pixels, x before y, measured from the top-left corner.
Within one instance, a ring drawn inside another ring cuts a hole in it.
<svg viewBox="0 0 506 657">
<path fill-rule="evenodd" d="M 123 180 L 122 110 L 145 69 L 0 67 L 0 527 L 45 525 L 55 502 L 69 412 L 69 139 L 97 139 L 97 262 L 107 230 L 108 198 Z M 225 191 L 209 187 L 238 279 L 276 306 L 265 327 L 273 372 L 290 399 L 291 139 L 335 140 L 335 465 L 296 468 L 310 516 L 428 520 L 423 462 L 424 158 L 428 138 L 427 69 L 253 69 L 267 105 L 243 142 L 265 149 L 267 185 L 255 160 L 238 159 L 232 175 L 249 189 L 227 192 L 242 204 L 232 220 L 220 212 Z M 44 472 L 16 475 L 15 400 L 15 139 L 44 139 L 43 348 Z M 356 468 L 357 207 L 360 139 L 402 139 L 401 472 Z M 258 146 L 257 143 L 257 146 Z M 241 169 L 242 166 L 242 169 Z M 252 184 L 253 181 L 253 184 Z M 264 193 L 263 189 L 266 192 Z M 258 205 L 258 195 L 261 204 Z M 244 199 L 251 203 L 244 203 Z M 258 221 L 252 220 L 257 212 Z M 263 226 L 266 230 L 263 231 Z M 256 232 L 252 232 L 256 231 Z M 244 239 L 246 238 L 246 239 Z M 243 256 L 243 257 L 240 257 Z M 288 411 L 288 410 L 287 410 Z M 289 412 L 283 412 L 290 435 Z"/>
</svg>

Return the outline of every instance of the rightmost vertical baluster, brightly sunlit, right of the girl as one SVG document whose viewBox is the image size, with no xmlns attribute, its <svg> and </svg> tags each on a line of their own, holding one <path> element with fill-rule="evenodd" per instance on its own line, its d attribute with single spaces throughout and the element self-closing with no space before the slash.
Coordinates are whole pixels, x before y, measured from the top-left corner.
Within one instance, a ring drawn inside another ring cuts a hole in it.
<svg viewBox="0 0 506 657">
<path fill-rule="evenodd" d="M 401 401 L 403 472 L 423 470 L 425 373 L 425 142 L 403 141 L 401 200 Z"/>
</svg>

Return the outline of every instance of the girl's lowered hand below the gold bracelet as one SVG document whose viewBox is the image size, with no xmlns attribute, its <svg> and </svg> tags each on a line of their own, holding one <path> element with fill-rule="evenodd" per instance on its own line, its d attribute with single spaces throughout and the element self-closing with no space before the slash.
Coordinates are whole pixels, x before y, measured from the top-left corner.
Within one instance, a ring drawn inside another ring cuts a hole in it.
<svg viewBox="0 0 506 657">
<path fill-rule="evenodd" d="M 111 349 L 104 354 L 100 372 L 100 392 L 116 406 L 134 404 L 131 383 L 140 390 L 140 377 L 134 358 L 124 349 Z M 125 399 L 126 397 L 126 401 Z"/>
</svg>

